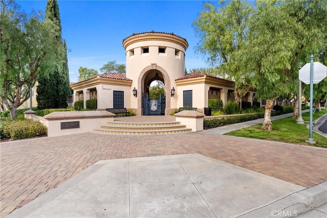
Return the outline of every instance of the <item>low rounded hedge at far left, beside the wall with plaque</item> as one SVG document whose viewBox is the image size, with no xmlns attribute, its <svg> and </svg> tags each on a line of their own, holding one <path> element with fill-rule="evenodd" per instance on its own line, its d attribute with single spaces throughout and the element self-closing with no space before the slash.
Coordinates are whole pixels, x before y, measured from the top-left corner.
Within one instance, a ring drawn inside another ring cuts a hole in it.
<svg viewBox="0 0 327 218">
<path fill-rule="evenodd" d="M 1 139 L 13 140 L 46 135 L 46 130 L 44 125 L 32 119 L 8 120 L 2 122 L 0 128 Z"/>
</svg>

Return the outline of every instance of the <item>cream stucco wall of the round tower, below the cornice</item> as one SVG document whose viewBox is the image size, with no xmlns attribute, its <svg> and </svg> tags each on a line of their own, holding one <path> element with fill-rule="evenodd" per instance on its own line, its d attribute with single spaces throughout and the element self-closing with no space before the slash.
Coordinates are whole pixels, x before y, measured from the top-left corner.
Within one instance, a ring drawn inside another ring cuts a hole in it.
<svg viewBox="0 0 327 218">
<path fill-rule="evenodd" d="M 143 48 L 148 47 L 149 53 L 143 53 Z M 159 47 L 165 48 L 165 53 L 159 53 Z M 177 55 L 175 55 L 175 51 Z M 171 97 L 171 89 L 177 88 L 175 80 L 183 77 L 185 72 L 185 49 L 178 43 L 161 40 L 137 41 L 126 47 L 126 77 L 133 81 L 131 89 L 137 89 L 137 98 L 131 96 L 131 108 L 138 108 L 141 115 L 142 93 L 146 92 L 144 83 L 146 70 L 156 69 L 166 76 L 166 109 L 176 108 L 177 98 Z M 163 69 L 160 70 L 159 68 Z"/>
</svg>

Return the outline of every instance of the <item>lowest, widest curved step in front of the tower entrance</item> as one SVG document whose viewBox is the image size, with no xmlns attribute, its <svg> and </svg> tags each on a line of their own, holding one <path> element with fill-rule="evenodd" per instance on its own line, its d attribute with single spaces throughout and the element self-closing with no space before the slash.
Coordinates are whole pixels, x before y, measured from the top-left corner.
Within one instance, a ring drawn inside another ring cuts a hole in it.
<svg viewBox="0 0 327 218">
<path fill-rule="evenodd" d="M 114 135 L 162 135 L 192 132 L 191 128 L 175 128 L 175 129 L 152 129 L 152 130 L 122 130 L 122 129 L 94 129 L 97 133 L 106 133 Z"/>
</svg>

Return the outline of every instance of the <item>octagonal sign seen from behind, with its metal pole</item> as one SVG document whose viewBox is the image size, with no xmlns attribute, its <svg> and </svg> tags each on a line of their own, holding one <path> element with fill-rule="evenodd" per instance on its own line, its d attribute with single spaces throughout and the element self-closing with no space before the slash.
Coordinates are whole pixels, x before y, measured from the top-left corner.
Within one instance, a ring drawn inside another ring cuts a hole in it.
<svg viewBox="0 0 327 218">
<path fill-rule="evenodd" d="M 310 77 L 308 71 L 310 69 Z M 298 71 L 298 79 L 305 84 L 310 84 L 310 133 L 306 142 L 316 143 L 312 138 L 313 126 L 313 84 L 319 83 L 327 75 L 327 67 L 319 62 L 313 62 L 313 55 L 310 56 L 310 63 L 305 64 Z"/>
</svg>

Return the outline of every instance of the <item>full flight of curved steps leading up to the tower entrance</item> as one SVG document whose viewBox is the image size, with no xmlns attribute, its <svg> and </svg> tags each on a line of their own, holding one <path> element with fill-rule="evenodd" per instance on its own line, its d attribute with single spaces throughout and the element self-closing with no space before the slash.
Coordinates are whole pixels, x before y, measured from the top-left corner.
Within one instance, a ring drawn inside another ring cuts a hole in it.
<svg viewBox="0 0 327 218">
<path fill-rule="evenodd" d="M 155 122 L 155 123 L 130 123 L 130 122 L 108 122 L 101 128 L 94 129 L 97 133 L 115 135 L 159 135 L 177 134 L 192 132 L 191 128 L 186 128 L 180 122 Z"/>
</svg>

